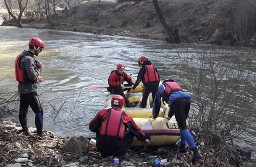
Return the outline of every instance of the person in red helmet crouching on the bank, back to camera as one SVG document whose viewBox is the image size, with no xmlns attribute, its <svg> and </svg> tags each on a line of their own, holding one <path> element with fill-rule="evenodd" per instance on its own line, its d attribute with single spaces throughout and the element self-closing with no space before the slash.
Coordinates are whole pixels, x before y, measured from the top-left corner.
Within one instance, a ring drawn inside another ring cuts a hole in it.
<svg viewBox="0 0 256 167">
<path fill-rule="evenodd" d="M 114 95 L 111 99 L 112 108 L 100 110 L 89 123 L 90 131 L 96 132 L 96 147 L 103 157 L 125 153 L 134 136 L 146 144 L 150 143 L 131 115 L 121 110 L 122 105 L 124 97 Z"/>
</svg>

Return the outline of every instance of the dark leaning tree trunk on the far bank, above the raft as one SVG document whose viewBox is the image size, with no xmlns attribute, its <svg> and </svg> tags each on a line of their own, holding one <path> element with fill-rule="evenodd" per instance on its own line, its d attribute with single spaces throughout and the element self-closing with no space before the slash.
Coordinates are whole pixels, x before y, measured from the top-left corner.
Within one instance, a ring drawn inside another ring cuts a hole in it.
<svg viewBox="0 0 256 167">
<path fill-rule="evenodd" d="M 154 8 L 156 9 L 156 13 L 158 15 L 158 18 L 159 18 L 164 30 L 167 33 L 168 41 L 171 42 L 171 43 L 179 43 L 180 42 L 179 30 L 178 29 L 173 30 L 167 25 L 167 23 L 164 19 L 164 16 L 161 12 L 161 9 L 159 7 L 158 0 L 153 0 L 153 4 L 154 4 Z"/>
</svg>

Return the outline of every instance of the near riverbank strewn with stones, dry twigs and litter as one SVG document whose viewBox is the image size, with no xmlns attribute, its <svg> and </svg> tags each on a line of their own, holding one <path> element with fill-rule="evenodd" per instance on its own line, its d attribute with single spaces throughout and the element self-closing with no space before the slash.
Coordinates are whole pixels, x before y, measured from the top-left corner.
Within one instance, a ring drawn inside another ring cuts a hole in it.
<svg viewBox="0 0 256 167">
<path fill-rule="evenodd" d="M 97 167 L 97 166 L 119 166 L 114 165 L 114 157 L 101 157 L 97 152 L 95 145 L 89 144 L 91 138 L 82 136 L 73 136 L 58 138 L 54 136 L 54 132 L 44 130 L 45 136 L 39 137 L 36 135 L 36 129 L 29 128 L 33 136 L 24 136 L 21 133 L 21 127 L 16 126 L 16 123 L 11 121 L 3 121 L 0 123 L 0 166 L 2 167 Z M 76 147 L 77 146 L 77 147 Z M 243 151 L 230 147 L 229 151 Z M 76 151 L 76 152 L 74 152 Z M 222 150 L 224 151 L 224 150 Z M 215 148 L 200 146 L 200 152 L 203 159 L 193 164 L 195 167 L 200 166 L 216 166 L 221 164 L 221 157 Z M 231 155 L 227 152 L 227 155 Z M 242 153 L 239 157 L 229 157 L 233 166 L 252 166 L 248 162 L 239 164 L 236 159 L 242 158 Z M 183 166 L 190 167 L 192 164 L 189 161 L 192 153 L 181 154 L 178 152 L 178 146 L 162 146 L 162 147 L 144 147 L 132 148 L 124 156 L 119 156 L 121 164 L 126 167 L 149 167 L 152 166 L 152 161 L 157 157 L 161 159 L 161 166 Z M 248 155 L 244 155 L 248 156 Z"/>
</svg>

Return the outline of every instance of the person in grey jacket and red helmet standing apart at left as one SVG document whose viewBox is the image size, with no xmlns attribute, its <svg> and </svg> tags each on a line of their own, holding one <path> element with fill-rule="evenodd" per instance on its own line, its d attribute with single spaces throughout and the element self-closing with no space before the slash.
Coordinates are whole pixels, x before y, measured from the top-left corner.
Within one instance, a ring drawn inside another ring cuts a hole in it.
<svg viewBox="0 0 256 167">
<path fill-rule="evenodd" d="M 35 116 L 35 124 L 37 134 L 42 136 L 43 134 L 43 108 L 40 104 L 36 89 L 38 82 L 42 82 L 43 78 L 40 77 L 40 73 L 44 68 L 44 65 L 35 59 L 42 49 L 45 48 L 45 44 L 39 38 L 31 38 L 29 41 L 28 51 L 24 50 L 21 55 L 18 55 L 15 59 L 15 77 L 19 82 L 18 92 L 20 94 L 19 103 L 19 122 L 21 123 L 23 133 L 25 135 L 32 135 L 28 130 L 26 115 L 28 113 L 28 107 L 30 106 Z"/>
</svg>

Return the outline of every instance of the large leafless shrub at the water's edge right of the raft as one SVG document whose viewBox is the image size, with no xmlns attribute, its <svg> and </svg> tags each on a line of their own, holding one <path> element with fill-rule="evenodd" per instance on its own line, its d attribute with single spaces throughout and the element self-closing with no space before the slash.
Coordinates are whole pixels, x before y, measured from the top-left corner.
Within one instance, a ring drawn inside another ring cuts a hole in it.
<svg viewBox="0 0 256 167">
<path fill-rule="evenodd" d="M 255 109 L 248 104 L 256 95 L 251 91 L 255 90 L 253 53 L 199 48 L 196 55 L 180 55 L 185 85 L 193 93 L 193 129 L 199 134 L 196 141 L 214 148 L 214 156 L 221 157 L 220 162 L 227 166 L 234 161 L 242 163 L 239 156 L 232 156 L 235 152 L 230 144 L 252 122 L 250 110 Z"/>
</svg>

